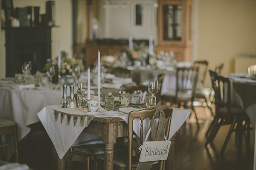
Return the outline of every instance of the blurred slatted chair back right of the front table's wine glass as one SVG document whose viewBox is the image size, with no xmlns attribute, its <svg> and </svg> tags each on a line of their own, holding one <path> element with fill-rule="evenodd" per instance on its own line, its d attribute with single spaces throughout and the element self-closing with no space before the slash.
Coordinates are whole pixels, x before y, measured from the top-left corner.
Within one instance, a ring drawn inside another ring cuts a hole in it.
<svg viewBox="0 0 256 170">
<path fill-rule="evenodd" d="M 195 88 L 198 80 L 198 67 L 178 67 L 176 72 L 176 94 L 178 96 L 185 94 L 194 98 Z M 192 101 L 192 100 L 191 100 Z"/>
</svg>

